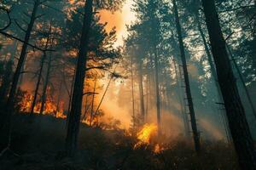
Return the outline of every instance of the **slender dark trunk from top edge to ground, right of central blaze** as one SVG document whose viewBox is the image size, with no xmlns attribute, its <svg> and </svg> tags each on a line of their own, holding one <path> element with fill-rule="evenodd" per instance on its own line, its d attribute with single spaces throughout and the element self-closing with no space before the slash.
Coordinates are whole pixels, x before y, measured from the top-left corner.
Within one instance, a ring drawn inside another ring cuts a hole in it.
<svg viewBox="0 0 256 170">
<path fill-rule="evenodd" d="M 189 104 L 189 114 L 190 114 L 192 133 L 193 133 L 194 143 L 195 143 L 195 151 L 199 154 L 200 149 L 201 149 L 200 136 L 199 136 L 199 133 L 197 130 L 197 125 L 196 125 L 196 120 L 195 120 L 193 99 L 192 99 L 190 85 L 189 85 L 189 73 L 188 73 L 187 61 L 186 61 L 185 50 L 184 50 L 184 45 L 183 45 L 182 28 L 181 28 L 180 22 L 179 22 L 176 0 L 173 0 L 173 8 L 174 8 L 174 14 L 175 14 L 175 20 L 176 20 L 180 55 L 181 55 L 181 60 L 182 60 L 182 65 L 183 65 L 183 77 L 184 77 L 185 89 L 186 89 L 186 94 L 187 94 L 187 99 L 188 99 L 188 104 Z"/>
</svg>

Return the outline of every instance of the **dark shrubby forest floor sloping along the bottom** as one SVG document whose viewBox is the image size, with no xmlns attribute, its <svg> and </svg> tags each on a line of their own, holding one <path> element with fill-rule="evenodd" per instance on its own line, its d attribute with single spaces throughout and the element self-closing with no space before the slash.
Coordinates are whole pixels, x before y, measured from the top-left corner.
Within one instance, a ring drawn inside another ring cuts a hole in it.
<svg viewBox="0 0 256 170">
<path fill-rule="evenodd" d="M 230 144 L 204 142 L 197 156 L 192 144 L 177 139 L 168 149 L 154 153 L 144 144 L 134 148 L 137 139 L 122 130 L 102 130 L 81 124 L 79 150 L 73 158 L 64 154 L 65 120 L 36 116 L 27 122 L 26 115 L 14 118 L 11 150 L 0 157 L 1 170 L 150 170 L 201 169 L 236 170 L 236 156 Z"/>
</svg>

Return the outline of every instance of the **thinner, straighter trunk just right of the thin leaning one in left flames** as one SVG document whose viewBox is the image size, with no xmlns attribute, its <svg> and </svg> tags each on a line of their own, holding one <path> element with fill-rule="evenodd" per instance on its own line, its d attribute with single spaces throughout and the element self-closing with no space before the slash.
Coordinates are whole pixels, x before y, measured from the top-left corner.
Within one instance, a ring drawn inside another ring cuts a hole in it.
<svg viewBox="0 0 256 170">
<path fill-rule="evenodd" d="M 44 105 L 45 105 L 46 99 L 47 99 L 47 88 L 48 88 L 48 84 L 49 84 L 49 73 L 50 73 L 51 61 L 52 61 L 51 57 L 52 57 L 52 54 L 49 54 L 47 71 L 46 71 L 46 76 L 45 76 L 45 80 L 44 80 L 44 88 L 43 88 L 43 93 L 42 93 L 41 107 L 40 107 L 40 111 L 39 111 L 40 115 L 43 115 Z"/>
</svg>

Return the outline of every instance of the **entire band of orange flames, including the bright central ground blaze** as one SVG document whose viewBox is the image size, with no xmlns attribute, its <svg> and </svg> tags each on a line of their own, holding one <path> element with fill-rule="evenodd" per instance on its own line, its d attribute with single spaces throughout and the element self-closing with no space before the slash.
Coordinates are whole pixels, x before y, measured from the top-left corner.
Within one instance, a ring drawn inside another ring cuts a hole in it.
<svg viewBox="0 0 256 170">
<path fill-rule="evenodd" d="M 32 105 L 32 94 L 24 93 L 23 98 L 19 102 L 20 113 L 30 113 Z M 40 115 L 42 103 L 38 101 L 34 108 L 34 114 Z M 67 113 L 63 109 L 64 103 L 60 101 L 55 104 L 55 101 L 51 98 L 47 98 L 42 116 L 53 116 L 55 118 L 66 119 Z M 81 117 L 81 122 L 90 127 L 99 127 L 102 130 L 122 130 L 121 122 L 109 116 L 106 118 L 102 110 L 97 111 L 97 114 L 90 115 L 90 111 L 84 111 Z M 160 142 L 160 138 L 157 135 L 158 127 L 152 123 L 145 123 L 137 128 L 136 132 L 128 132 L 129 130 L 122 130 L 124 135 L 128 138 L 133 138 L 133 150 L 137 150 L 142 147 L 147 147 L 151 149 L 154 153 L 160 153 L 161 150 L 165 150 L 164 144 Z"/>
</svg>

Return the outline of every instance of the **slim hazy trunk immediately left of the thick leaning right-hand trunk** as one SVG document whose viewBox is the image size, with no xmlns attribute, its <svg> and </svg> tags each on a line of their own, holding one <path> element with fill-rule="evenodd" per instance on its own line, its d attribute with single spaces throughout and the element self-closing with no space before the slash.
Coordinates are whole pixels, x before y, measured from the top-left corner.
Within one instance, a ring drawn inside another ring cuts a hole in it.
<svg viewBox="0 0 256 170">
<path fill-rule="evenodd" d="M 215 65 L 213 64 L 212 54 L 211 54 L 210 49 L 208 48 L 208 45 L 207 45 L 207 39 L 206 39 L 205 34 L 204 34 L 204 32 L 202 31 L 202 28 L 201 28 L 198 9 L 196 9 L 196 11 L 195 11 L 195 22 L 197 23 L 198 31 L 200 32 L 201 39 L 203 41 L 205 50 L 207 52 L 207 60 L 208 60 L 208 63 L 210 65 L 210 70 L 212 72 L 212 77 L 213 77 L 213 81 L 215 83 L 215 87 L 217 88 L 218 100 L 219 100 L 218 102 L 222 103 L 223 102 L 223 97 L 222 97 L 221 90 L 220 90 L 219 85 L 218 85 L 218 77 L 217 77 L 216 68 L 215 68 Z M 225 133 L 226 133 L 226 136 L 227 136 L 227 140 L 230 141 L 230 131 L 227 127 L 228 126 L 227 117 L 224 115 L 225 113 L 223 111 L 221 111 L 220 114 L 221 114 L 221 118 L 222 118 L 223 123 L 224 123 L 224 130 L 225 130 Z"/>
</svg>

